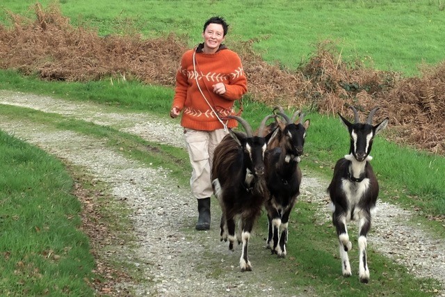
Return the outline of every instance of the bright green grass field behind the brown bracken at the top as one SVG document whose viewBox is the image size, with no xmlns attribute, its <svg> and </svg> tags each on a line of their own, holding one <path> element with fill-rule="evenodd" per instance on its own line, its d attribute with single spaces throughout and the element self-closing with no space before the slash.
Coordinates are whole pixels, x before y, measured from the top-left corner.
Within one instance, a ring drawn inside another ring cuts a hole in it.
<svg viewBox="0 0 445 297">
<path fill-rule="evenodd" d="M 50 0 L 39 1 L 47 6 Z M 33 0 L 3 0 L 0 8 L 33 15 Z M 444 61 L 443 0 L 323 1 L 59 1 L 70 22 L 93 26 L 101 35 L 175 32 L 190 45 L 201 41 L 211 15 L 229 22 L 230 40 L 259 40 L 266 61 L 295 68 L 317 42 L 334 40 L 346 61 L 360 59 L 378 70 L 419 74 L 422 63 Z M 0 19 L 8 19 L 0 12 Z"/>
</svg>

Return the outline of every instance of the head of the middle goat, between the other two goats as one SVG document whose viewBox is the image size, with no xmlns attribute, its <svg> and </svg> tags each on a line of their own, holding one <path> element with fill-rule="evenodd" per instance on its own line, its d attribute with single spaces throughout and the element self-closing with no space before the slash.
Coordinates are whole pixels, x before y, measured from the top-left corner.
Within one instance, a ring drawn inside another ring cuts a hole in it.
<svg viewBox="0 0 445 297">
<path fill-rule="evenodd" d="M 289 118 L 282 112 L 282 109 L 277 112 L 277 115 L 280 115 L 284 121 L 276 118 L 279 129 L 275 131 L 276 135 L 271 136 L 271 138 L 277 137 L 280 145 L 286 150 L 287 154 L 301 156 L 303 154 L 306 130 L 309 128 L 310 120 L 303 122 L 305 115 L 300 113 L 300 111 L 293 113 L 292 118 Z"/>
</svg>

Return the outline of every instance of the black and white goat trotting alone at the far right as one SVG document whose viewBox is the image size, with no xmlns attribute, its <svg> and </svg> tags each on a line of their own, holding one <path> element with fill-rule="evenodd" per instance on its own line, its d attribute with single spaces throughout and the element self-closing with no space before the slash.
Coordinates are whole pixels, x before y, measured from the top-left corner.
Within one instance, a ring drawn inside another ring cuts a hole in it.
<svg viewBox="0 0 445 297">
<path fill-rule="evenodd" d="M 385 118 L 378 125 L 372 125 L 375 111 L 373 109 L 366 120 L 361 123 L 357 110 L 350 106 L 354 112 L 355 123 L 352 124 L 339 113 L 350 135 L 349 154 L 339 159 L 334 167 L 334 176 L 327 191 L 332 201 L 332 223 L 337 228 L 339 236 L 339 251 L 343 276 L 350 276 L 348 250 L 351 242 L 346 229 L 350 220 L 358 220 L 358 247 L 359 247 L 359 280 L 369 282 L 369 267 L 366 262 L 366 235 L 371 228 L 371 211 L 375 209 L 379 186 L 369 156 L 373 138 L 382 129 L 387 127 L 389 121 Z"/>
</svg>

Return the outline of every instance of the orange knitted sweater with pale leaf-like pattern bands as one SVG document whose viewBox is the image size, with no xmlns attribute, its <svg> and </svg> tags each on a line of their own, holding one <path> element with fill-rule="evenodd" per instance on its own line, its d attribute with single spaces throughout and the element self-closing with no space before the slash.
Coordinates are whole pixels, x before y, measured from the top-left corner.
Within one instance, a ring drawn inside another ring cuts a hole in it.
<svg viewBox="0 0 445 297">
<path fill-rule="evenodd" d="M 176 74 L 172 108 L 182 111 L 181 126 L 203 131 L 222 129 L 223 125 L 214 113 L 216 111 L 219 118 L 227 122 L 227 127 L 236 127 L 236 120 L 227 121 L 224 117 L 234 114 L 234 102 L 248 90 L 241 59 L 224 45 L 215 54 L 204 54 L 200 45 L 195 54 L 194 69 L 194 51 L 191 49 L 184 53 Z M 213 93 L 213 85 L 218 82 L 225 84 L 226 93 L 222 96 Z"/>
</svg>

